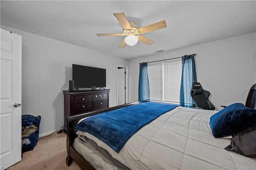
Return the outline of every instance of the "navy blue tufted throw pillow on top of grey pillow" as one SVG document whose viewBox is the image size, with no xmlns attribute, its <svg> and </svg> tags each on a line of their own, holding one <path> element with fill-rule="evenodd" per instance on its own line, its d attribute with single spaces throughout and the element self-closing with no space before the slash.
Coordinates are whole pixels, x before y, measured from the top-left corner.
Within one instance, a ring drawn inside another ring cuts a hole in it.
<svg viewBox="0 0 256 170">
<path fill-rule="evenodd" d="M 256 109 L 234 103 L 210 117 L 212 134 L 215 138 L 233 135 L 256 121 Z"/>
</svg>

